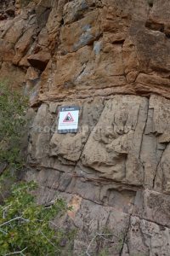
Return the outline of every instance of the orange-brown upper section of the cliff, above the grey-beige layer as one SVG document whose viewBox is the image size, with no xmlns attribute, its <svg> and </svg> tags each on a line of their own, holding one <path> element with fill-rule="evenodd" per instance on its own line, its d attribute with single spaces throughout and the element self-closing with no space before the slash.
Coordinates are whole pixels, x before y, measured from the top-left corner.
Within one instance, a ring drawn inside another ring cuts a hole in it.
<svg viewBox="0 0 170 256">
<path fill-rule="evenodd" d="M 1 77 L 11 73 L 33 105 L 114 94 L 169 98 L 169 2 L 161 2 L 29 1 L 1 21 Z M 34 82 L 25 79 L 28 67 L 39 73 Z"/>
</svg>

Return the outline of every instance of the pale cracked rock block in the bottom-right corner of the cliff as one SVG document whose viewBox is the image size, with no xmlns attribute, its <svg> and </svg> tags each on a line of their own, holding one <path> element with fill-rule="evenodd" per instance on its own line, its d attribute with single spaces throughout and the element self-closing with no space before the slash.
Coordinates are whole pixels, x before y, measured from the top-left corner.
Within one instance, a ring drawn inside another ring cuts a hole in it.
<svg viewBox="0 0 170 256">
<path fill-rule="evenodd" d="M 169 231 L 166 227 L 132 217 L 126 241 L 127 255 L 168 255 Z"/>
</svg>

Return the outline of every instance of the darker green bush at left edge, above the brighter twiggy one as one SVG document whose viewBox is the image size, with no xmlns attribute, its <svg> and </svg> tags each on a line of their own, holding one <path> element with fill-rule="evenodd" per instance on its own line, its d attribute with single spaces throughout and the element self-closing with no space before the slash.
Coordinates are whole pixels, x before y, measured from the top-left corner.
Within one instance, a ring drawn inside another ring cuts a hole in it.
<svg viewBox="0 0 170 256">
<path fill-rule="evenodd" d="M 10 170 L 19 169 L 23 164 L 20 137 L 26 108 L 26 97 L 0 82 L 0 163 Z"/>
</svg>

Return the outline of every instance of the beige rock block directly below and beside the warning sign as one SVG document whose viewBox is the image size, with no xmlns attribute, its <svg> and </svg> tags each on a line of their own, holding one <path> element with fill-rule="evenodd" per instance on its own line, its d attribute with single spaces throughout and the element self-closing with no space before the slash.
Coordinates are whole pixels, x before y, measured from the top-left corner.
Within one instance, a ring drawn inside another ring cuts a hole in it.
<svg viewBox="0 0 170 256">
<path fill-rule="evenodd" d="M 55 131 L 50 142 L 51 155 L 59 155 L 71 161 L 79 160 L 82 154 L 82 148 L 88 140 L 90 131 L 96 125 L 102 110 L 102 101 L 85 103 L 82 111 L 80 111 L 79 132 L 76 135 L 59 135 Z"/>
</svg>

